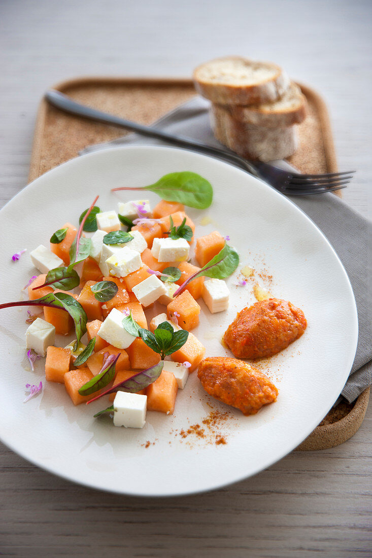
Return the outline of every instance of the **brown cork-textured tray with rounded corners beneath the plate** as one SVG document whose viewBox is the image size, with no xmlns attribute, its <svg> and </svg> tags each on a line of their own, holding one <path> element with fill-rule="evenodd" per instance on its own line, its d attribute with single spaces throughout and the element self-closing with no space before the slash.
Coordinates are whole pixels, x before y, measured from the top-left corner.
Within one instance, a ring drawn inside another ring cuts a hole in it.
<svg viewBox="0 0 372 558">
<path fill-rule="evenodd" d="M 327 108 L 312 89 L 299 84 L 308 101 L 308 116 L 299 125 L 299 148 L 288 159 L 302 172 L 336 172 L 337 162 Z M 91 107 L 142 124 L 151 124 L 195 95 L 190 79 L 99 78 L 64 81 L 55 89 Z M 51 107 L 44 99 L 37 114 L 29 181 L 77 157 L 88 145 L 125 136 L 107 124 L 85 121 Z M 332 448 L 355 434 L 368 406 L 369 389 L 352 405 L 332 409 L 297 449 Z"/>
</svg>

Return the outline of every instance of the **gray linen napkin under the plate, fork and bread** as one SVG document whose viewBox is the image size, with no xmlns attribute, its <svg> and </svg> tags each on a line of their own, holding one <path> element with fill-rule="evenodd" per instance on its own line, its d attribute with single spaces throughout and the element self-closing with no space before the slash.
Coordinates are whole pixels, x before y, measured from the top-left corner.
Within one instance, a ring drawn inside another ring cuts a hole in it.
<svg viewBox="0 0 372 558">
<path fill-rule="evenodd" d="M 214 138 L 208 117 L 209 103 L 195 97 L 154 123 L 154 127 L 171 134 L 201 140 L 221 147 Z M 85 148 L 82 153 L 118 145 L 159 145 L 163 142 L 137 134 Z M 232 163 L 231 163 L 232 164 Z M 276 166 L 290 167 L 285 161 Z M 354 364 L 341 395 L 350 403 L 372 383 L 372 223 L 356 213 L 333 194 L 290 196 L 322 230 L 344 264 L 354 290 L 359 320 L 359 338 Z M 347 343 L 347 339 L 345 339 Z M 340 398 L 337 400 L 340 401 Z"/>
</svg>

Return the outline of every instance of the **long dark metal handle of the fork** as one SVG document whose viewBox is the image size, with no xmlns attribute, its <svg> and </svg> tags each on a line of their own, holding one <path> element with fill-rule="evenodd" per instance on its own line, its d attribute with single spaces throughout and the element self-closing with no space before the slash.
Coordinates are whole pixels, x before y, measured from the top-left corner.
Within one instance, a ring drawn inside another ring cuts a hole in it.
<svg viewBox="0 0 372 558">
<path fill-rule="evenodd" d="M 126 120 L 125 118 L 115 116 L 114 114 L 108 114 L 106 112 L 102 112 L 102 110 L 87 107 L 87 105 L 77 103 L 67 95 L 64 95 L 63 93 L 60 93 L 59 91 L 56 91 L 54 89 L 47 91 L 45 94 L 45 98 L 54 107 L 64 110 L 69 114 L 75 114 L 77 116 L 87 118 L 88 120 L 103 122 L 104 124 L 111 124 L 111 126 L 126 128 L 132 130 L 133 132 L 141 134 L 141 136 L 163 140 L 167 143 L 170 143 L 171 145 L 187 147 L 192 151 L 207 153 L 207 155 L 217 155 L 217 157 L 222 157 L 223 159 L 227 159 L 229 161 L 237 163 L 244 170 L 250 172 L 250 174 L 259 176 L 256 167 L 251 162 L 245 160 L 239 155 L 236 155 L 236 153 L 233 153 L 232 151 L 223 150 L 218 147 L 212 147 L 207 145 L 206 143 L 202 143 L 197 140 L 190 140 L 186 137 L 173 136 L 173 134 L 168 134 L 156 128 L 144 126 L 143 124 L 137 124 L 136 122 Z"/>
</svg>

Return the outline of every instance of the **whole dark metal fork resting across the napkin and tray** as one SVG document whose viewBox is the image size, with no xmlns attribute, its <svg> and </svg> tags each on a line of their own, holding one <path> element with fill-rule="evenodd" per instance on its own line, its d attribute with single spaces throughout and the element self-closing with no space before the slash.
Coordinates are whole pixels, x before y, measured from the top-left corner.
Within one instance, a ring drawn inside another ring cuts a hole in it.
<svg viewBox="0 0 372 558">
<path fill-rule="evenodd" d="M 64 110 L 70 114 L 81 116 L 96 122 L 111 124 L 111 126 L 126 128 L 132 130 L 133 132 L 137 132 L 142 136 L 156 138 L 158 140 L 165 141 L 166 143 L 170 143 L 171 145 L 186 147 L 192 151 L 206 153 L 207 155 L 213 155 L 218 158 L 222 158 L 223 160 L 231 161 L 235 163 L 235 165 L 240 166 L 242 169 L 249 172 L 251 175 L 264 180 L 280 193 L 286 195 L 308 196 L 311 194 L 323 194 L 326 192 L 340 190 L 341 188 L 345 188 L 346 184 L 349 184 L 352 174 L 355 172 L 298 174 L 296 172 L 284 171 L 269 165 L 268 163 L 248 161 L 247 159 L 240 157 L 240 155 L 237 155 L 237 153 L 227 149 L 213 147 L 187 137 L 173 136 L 173 134 L 163 132 L 156 128 L 144 126 L 143 124 L 137 124 L 136 122 L 131 122 L 113 114 L 108 114 L 102 112 L 101 110 L 87 107 L 86 105 L 77 103 L 67 95 L 64 95 L 54 89 L 48 91 L 45 94 L 45 98 L 54 107 Z"/>
</svg>

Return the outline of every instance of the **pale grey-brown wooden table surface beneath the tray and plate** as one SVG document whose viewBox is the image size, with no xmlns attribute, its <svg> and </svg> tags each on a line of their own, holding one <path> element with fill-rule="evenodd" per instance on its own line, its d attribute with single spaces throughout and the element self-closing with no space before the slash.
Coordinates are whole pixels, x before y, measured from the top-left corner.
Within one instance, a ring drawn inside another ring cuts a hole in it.
<svg viewBox="0 0 372 558">
<path fill-rule="evenodd" d="M 371 8 L 368 0 L 2 0 L 0 206 L 26 184 L 37 105 L 51 84 L 83 74 L 188 76 L 201 61 L 245 54 L 278 62 L 323 95 L 340 169 L 358 171 L 344 199 L 371 217 Z M 371 426 L 369 408 L 337 448 L 293 452 L 244 482 L 167 499 L 83 488 L 1 446 L 0 555 L 372 556 Z"/>
</svg>

